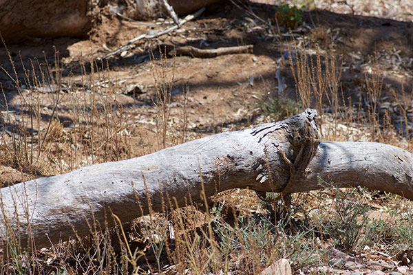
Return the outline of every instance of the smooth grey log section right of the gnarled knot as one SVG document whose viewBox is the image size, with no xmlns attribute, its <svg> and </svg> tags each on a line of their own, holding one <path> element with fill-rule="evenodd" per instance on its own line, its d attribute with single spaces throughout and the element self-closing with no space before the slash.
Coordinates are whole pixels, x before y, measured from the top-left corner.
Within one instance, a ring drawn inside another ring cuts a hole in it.
<svg viewBox="0 0 413 275">
<path fill-rule="evenodd" d="M 317 190 L 333 183 L 413 199 L 412 179 L 413 155 L 402 148 L 376 142 L 322 142 L 308 164 L 308 173 L 284 192 Z"/>
</svg>

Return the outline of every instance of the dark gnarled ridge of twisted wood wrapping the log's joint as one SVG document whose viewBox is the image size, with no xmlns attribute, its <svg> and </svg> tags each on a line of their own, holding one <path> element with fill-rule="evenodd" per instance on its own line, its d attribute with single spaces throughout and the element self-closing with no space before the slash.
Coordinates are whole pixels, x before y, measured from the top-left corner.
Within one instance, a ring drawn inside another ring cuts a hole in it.
<svg viewBox="0 0 413 275">
<path fill-rule="evenodd" d="M 290 158 L 279 150 L 281 159 L 288 165 L 290 177 L 288 183 L 282 190 L 283 195 L 290 193 L 289 186 L 299 180 L 308 172 L 308 164 L 317 153 L 320 135 L 317 127 L 317 110 L 306 109 L 303 113 L 295 115 L 289 127 L 286 128 L 288 139 L 293 148 L 293 154 Z"/>
</svg>

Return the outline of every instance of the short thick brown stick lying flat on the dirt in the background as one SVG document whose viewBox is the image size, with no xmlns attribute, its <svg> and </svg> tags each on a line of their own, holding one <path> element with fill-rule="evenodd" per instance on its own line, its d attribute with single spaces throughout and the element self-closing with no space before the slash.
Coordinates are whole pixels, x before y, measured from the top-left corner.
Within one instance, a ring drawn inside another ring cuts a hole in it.
<svg viewBox="0 0 413 275">
<path fill-rule="evenodd" d="M 224 54 L 244 54 L 253 51 L 253 45 L 243 45 L 235 47 L 218 47 L 217 49 L 199 49 L 192 46 L 182 46 L 176 48 L 169 48 L 169 56 L 192 56 L 200 58 L 211 58 L 215 56 L 222 56 Z"/>
</svg>

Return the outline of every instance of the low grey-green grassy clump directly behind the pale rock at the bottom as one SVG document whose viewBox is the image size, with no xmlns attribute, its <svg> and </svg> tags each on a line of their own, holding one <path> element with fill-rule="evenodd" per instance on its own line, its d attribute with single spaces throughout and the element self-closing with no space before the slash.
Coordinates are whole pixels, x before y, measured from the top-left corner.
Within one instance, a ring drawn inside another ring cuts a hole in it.
<svg viewBox="0 0 413 275">
<path fill-rule="evenodd" d="M 221 211 L 222 205 L 213 208 L 211 214 L 222 259 L 229 259 L 229 262 L 242 259 L 243 265 L 250 265 L 247 270 L 251 271 L 257 266 L 265 267 L 281 258 L 289 259 L 293 270 L 318 266 L 321 263 L 311 233 L 313 228 L 296 228 L 291 232 L 287 228 L 288 221 L 279 220 L 274 224 L 273 214 L 239 217 L 235 224 L 230 225 L 222 219 Z M 285 219 L 288 220 L 289 217 Z"/>
</svg>

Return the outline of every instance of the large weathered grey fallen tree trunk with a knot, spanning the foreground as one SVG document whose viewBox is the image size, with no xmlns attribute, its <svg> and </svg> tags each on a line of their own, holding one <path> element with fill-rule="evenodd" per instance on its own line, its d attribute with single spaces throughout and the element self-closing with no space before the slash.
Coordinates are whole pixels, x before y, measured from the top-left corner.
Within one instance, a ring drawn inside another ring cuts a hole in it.
<svg viewBox="0 0 413 275">
<path fill-rule="evenodd" d="M 149 207 L 162 211 L 173 198 L 178 207 L 199 200 L 202 184 L 207 197 L 230 188 L 287 194 L 324 188 L 321 177 L 413 199 L 412 154 L 372 142 L 319 144 L 316 115 L 308 109 L 282 122 L 2 188 L 0 241 L 10 232 L 25 240 L 30 231 L 37 248 L 44 247 L 48 238 L 73 236 L 73 229 L 89 234 L 92 212 L 100 224 L 114 225 L 111 212 L 130 221 Z"/>
</svg>

